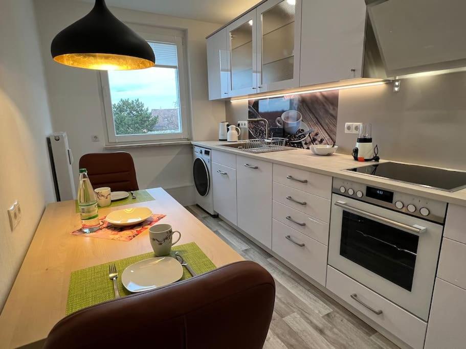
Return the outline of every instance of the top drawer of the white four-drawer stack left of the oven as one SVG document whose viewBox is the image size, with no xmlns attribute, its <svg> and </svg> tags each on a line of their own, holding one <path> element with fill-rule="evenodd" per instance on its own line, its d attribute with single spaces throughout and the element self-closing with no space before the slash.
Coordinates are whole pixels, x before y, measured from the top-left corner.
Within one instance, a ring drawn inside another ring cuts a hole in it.
<svg viewBox="0 0 466 349">
<path fill-rule="evenodd" d="M 274 164 L 274 182 L 330 199 L 332 177 Z M 307 181 L 303 183 L 302 181 Z"/>
</svg>

